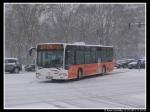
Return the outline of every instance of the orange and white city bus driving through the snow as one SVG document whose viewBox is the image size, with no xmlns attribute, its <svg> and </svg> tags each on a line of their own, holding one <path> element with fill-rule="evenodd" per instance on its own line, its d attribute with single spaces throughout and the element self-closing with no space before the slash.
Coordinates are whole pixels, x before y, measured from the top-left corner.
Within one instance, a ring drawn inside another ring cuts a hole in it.
<svg viewBox="0 0 150 112">
<path fill-rule="evenodd" d="M 112 46 L 69 43 L 37 45 L 37 79 L 81 79 L 106 74 L 113 68 Z"/>
</svg>

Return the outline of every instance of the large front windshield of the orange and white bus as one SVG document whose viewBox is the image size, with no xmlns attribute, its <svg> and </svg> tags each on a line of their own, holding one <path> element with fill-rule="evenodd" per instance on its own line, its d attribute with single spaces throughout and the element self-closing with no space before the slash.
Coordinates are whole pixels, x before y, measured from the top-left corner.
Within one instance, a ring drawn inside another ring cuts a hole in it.
<svg viewBox="0 0 150 112">
<path fill-rule="evenodd" d="M 37 66 L 44 68 L 62 67 L 63 50 L 41 50 L 37 52 Z"/>
</svg>

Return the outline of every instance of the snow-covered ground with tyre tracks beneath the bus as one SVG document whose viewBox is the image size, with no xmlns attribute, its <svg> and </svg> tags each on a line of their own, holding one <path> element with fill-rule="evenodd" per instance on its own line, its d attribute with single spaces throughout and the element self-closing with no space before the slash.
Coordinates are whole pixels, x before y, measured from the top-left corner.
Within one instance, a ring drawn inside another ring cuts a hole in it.
<svg viewBox="0 0 150 112">
<path fill-rule="evenodd" d="M 115 69 L 80 81 L 37 81 L 34 72 L 4 74 L 5 108 L 146 108 L 145 69 Z"/>
</svg>

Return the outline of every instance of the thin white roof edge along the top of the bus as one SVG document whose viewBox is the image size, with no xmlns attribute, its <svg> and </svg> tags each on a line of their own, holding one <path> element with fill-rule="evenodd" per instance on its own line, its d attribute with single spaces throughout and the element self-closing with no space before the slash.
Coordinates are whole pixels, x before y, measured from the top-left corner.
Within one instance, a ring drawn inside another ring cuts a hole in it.
<svg viewBox="0 0 150 112">
<path fill-rule="evenodd" d="M 39 43 L 38 45 L 43 44 L 63 44 L 63 45 L 75 45 L 75 46 L 95 46 L 95 47 L 113 47 L 113 46 L 105 46 L 105 45 L 89 45 L 89 44 L 77 44 L 77 43 Z"/>
</svg>

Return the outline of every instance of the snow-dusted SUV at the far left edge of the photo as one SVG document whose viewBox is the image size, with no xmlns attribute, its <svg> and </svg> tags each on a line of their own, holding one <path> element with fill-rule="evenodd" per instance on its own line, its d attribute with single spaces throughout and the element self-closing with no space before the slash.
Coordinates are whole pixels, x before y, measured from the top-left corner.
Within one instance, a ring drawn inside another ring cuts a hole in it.
<svg viewBox="0 0 150 112">
<path fill-rule="evenodd" d="M 19 73 L 22 70 L 22 65 L 17 58 L 5 58 L 5 72 Z"/>
</svg>

